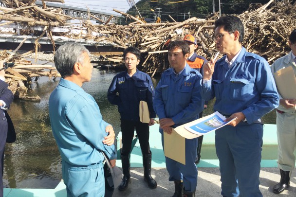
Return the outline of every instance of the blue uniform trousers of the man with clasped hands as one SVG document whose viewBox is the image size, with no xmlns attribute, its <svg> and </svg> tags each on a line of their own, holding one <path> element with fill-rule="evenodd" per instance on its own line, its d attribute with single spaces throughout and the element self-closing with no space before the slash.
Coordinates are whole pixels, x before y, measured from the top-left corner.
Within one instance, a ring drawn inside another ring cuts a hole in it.
<svg viewBox="0 0 296 197">
<path fill-rule="evenodd" d="M 164 149 L 164 134 L 161 135 Z M 166 170 L 169 174 L 169 181 L 182 180 L 184 190 L 194 192 L 197 186 L 197 168 L 194 163 L 197 155 L 197 138 L 185 139 L 185 163 L 179 163 L 166 157 Z"/>
</svg>

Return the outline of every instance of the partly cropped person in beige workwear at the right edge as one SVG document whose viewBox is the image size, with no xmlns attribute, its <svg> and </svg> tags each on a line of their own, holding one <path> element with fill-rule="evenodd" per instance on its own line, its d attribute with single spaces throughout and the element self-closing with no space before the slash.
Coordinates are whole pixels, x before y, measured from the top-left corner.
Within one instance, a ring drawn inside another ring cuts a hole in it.
<svg viewBox="0 0 296 197">
<path fill-rule="evenodd" d="M 271 65 L 271 71 L 275 72 L 292 66 L 296 75 L 296 29 L 289 37 L 291 52 Z M 287 84 L 291 86 L 291 84 Z M 277 87 L 278 88 L 278 87 Z M 290 187 L 290 178 L 295 167 L 294 150 L 296 147 L 296 98 L 284 99 L 279 94 L 279 106 L 277 107 L 277 143 L 278 143 L 278 168 L 280 171 L 280 182 L 273 187 L 273 193 L 279 194 Z"/>
</svg>

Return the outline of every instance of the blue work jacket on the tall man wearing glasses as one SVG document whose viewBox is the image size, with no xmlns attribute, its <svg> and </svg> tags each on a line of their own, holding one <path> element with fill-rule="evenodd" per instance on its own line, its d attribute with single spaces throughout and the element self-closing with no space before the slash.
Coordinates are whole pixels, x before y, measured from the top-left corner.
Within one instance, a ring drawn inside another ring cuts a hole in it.
<svg viewBox="0 0 296 197">
<path fill-rule="evenodd" d="M 275 81 L 263 57 L 242 47 L 230 69 L 225 58 L 216 62 L 211 80 L 203 83 L 203 99 L 216 97 L 214 111 L 226 116 L 242 112 L 251 124 L 278 106 Z"/>
</svg>

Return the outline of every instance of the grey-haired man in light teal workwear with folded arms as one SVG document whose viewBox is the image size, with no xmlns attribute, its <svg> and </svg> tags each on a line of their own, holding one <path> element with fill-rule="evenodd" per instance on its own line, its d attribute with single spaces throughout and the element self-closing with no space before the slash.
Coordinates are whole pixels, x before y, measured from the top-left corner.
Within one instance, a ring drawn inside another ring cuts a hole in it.
<svg viewBox="0 0 296 197">
<path fill-rule="evenodd" d="M 93 97 L 81 88 L 92 77 L 89 54 L 82 44 L 67 43 L 58 48 L 54 58 L 62 78 L 50 95 L 49 117 L 68 197 L 104 196 L 102 152 L 115 166 L 113 128 L 103 121 Z"/>
</svg>

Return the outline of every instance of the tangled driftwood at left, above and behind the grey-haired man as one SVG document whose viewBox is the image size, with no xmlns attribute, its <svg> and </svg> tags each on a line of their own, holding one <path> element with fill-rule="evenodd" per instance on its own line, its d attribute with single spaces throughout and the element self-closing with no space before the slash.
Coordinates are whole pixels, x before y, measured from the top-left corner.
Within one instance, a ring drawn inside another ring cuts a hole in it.
<svg viewBox="0 0 296 197">
<path fill-rule="evenodd" d="M 61 9 L 55 10 L 53 8 L 47 8 L 44 1 L 51 2 L 64 2 L 63 0 L 44 0 L 43 9 L 37 7 L 34 4 L 35 0 L 2 0 L 5 7 L 0 6 L 0 20 L 6 21 L 1 25 L 7 25 L 10 23 L 21 23 L 26 26 L 41 25 L 44 26 L 44 31 L 35 41 L 35 52 L 38 51 L 38 39 L 47 32 L 51 37 L 53 45 L 55 45 L 52 33 L 49 31 L 50 26 L 65 25 L 66 19 L 71 17 L 61 14 Z M 56 68 L 51 65 L 34 65 L 31 61 L 27 61 L 23 58 L 24 55 L 30 54 L 33 51 L 29 51 L 25 54 L 17 54 L 20 46 L 24 43 L 25 39 L 19 44 L 19 47 L 11 51 L 0 51 L 0 60 L 4 62 L 15 63 L 13 67 L 8 68 L 5 72 L 6 82 L 9 84 L 10 90 L 16 97 L 22 99 L 39 100 L 38 96 L 28 96 L 27 88 L 25 84 L 31 82 L 32 78 L 36 79 L 39 76 L 48 76 L 50 78 L 60 77 L 60 74 L 56 71 Z"/>
</svg>

